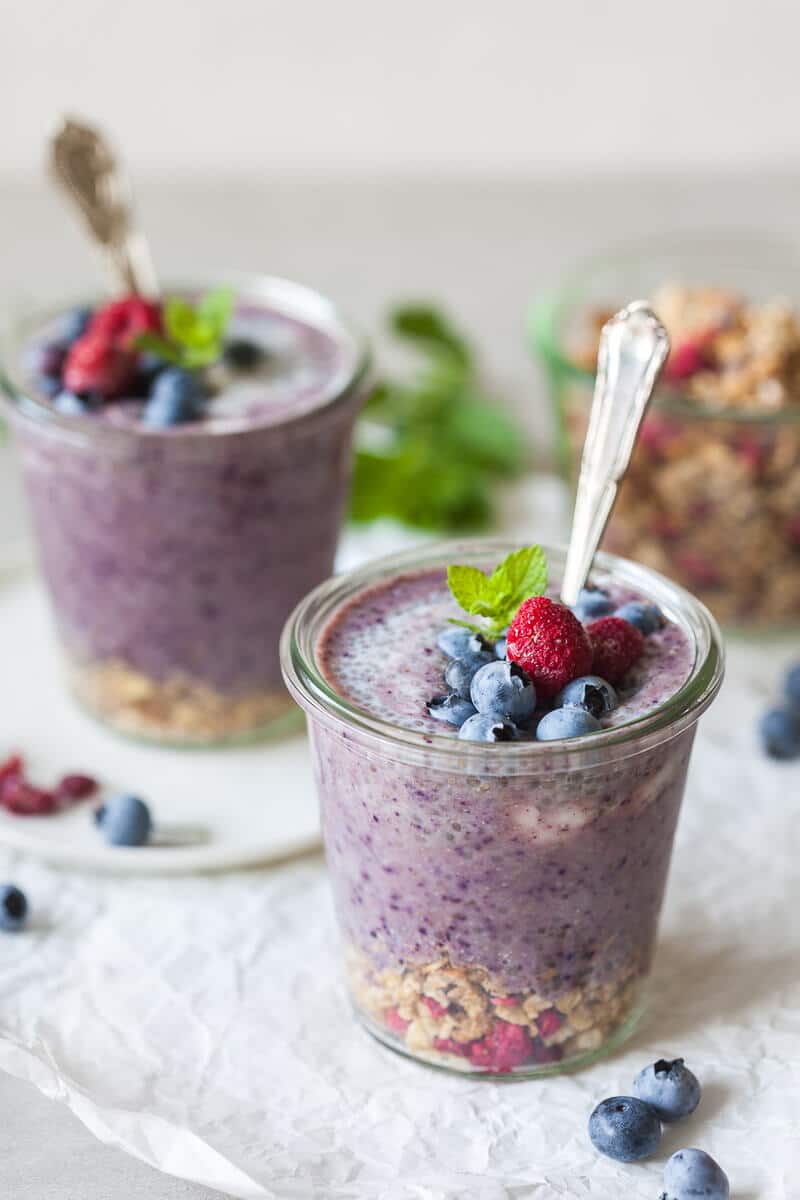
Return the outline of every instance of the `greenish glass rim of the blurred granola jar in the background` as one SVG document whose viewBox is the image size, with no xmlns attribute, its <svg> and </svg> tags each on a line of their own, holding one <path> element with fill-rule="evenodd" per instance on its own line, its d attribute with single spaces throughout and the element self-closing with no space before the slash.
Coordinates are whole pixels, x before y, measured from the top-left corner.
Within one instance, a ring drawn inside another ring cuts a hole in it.
<svg viewBox="0 0 800 1200">
<path fill-rule="evenodd" d="M 727 234 L 726 236 L 734 238 L 734 234 Z M 691 250 L 692 242 L 698 246 L 709 247 L 720 238 L 715 234 L 697 233 L 692 235 L 675 235 L 674 238 L 664 238 L 658 242 L 652 240 L 632 242 L 612 248 L 601 254 L 594 254 L 577 263 L 569 272 L 565 282 L 548 296 L 535 300 L 528 310 L 528 336 L 534 352 L 545 360 L 545 362 L 558 371 L 560 374 L 575 379 L 576 382 L 583 382 L 589 388 L 593 386 L 595 379 L 595 372 L 581 366 L 575 359 L 567 353 L 567 348 L 561 338 L 563 322 L 566 316 L 573 312 L 585 310 L 587 305 L 582 302 L 582 288 L 591 277 L 603 268 L 613 266 L 619 263 L 632 263 L 638 259 L 644 258 L 648 251 L 652 253 L 654 250 Z M 786 252 L 787 247 L 790 247 L 795 252 L 798 247 L 794 242 L 787 242 L 784 240 L 775 238 L 754 238 L 753 235 L 738 234 L 735 236 L 738 245 L 747 245 L 751 247 L 771 247 L 772 250 L 783 250 Z M 798 260 L 800 266 L 800 256 Z M 638 299 L 636 296 L 621 298 L 621 301 Z M 620 302 L 621 302 L 620 301 Z M 722 408 L 720 406 L 700 403 L 694 398 L 688 397 L 680 388 L 670 388 L 666 384 L 660 384 L 656 389 L 656 394 L 652 397 L 652 404 L 661 413 L 668 416 L 679 416 L 682 420 L 696 420 L 696 421 L 727 421 L 730 424 L 748 426 L 748 425 L 769 425 L 769 426 L 784 426 L 784 425 L 798 425 L 800 424 L 800 404 L 795 409 L 782 408 L 772 409 L 765 412 L 764 409 L 756 408 Z"/>
</svg>

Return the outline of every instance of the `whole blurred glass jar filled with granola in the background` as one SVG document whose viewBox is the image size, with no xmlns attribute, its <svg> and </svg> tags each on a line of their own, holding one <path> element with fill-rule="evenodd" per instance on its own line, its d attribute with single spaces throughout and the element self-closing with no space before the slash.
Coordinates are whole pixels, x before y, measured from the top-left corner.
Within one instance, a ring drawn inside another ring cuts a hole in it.
<svg viewBox="0 0 800 1200">
<path fill-rule="evenodd" d="M 672 353 L 604 545 L 745 630 L 800 624 L 799 269 L 768 238 L 654 240 L 579 266 L 531 312 L 573 485 L 600 328 L 654 305 Z"/>
</svg>

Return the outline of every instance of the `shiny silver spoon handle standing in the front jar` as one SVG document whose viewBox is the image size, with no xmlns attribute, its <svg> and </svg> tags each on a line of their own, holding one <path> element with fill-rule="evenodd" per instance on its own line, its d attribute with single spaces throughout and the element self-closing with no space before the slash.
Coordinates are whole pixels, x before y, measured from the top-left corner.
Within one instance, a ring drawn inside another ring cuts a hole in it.
<svg viewBox="0 0 800 1200">
<path fill-rule="evenodd" d="M 667 330 L 644 300 L 634 300 L 603 325 L 561 583 L 561 600 L 566 605 L 576 604 L 589 577 L 668 353 Z"/>
</svg>

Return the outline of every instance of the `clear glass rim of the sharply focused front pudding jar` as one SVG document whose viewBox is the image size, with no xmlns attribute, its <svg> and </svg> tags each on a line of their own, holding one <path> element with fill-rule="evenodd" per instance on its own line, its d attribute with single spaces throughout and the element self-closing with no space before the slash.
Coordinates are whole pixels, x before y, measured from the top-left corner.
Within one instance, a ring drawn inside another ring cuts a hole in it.
<svg viewBox="0 0 800 1200">
<path fill-rule="evenodd" d="M 630 584 L 658 604 L 669 619 L 679 620 L 692 637 L 694 659 L 680 688 L 666 701 L 625 725 L 583 738 L 561 742 L 505 742 L 498 746 L 459 742 L 457 738 L 411 730 L 375 716 L 343 697 L 326 680 L 317 662 L 317 644 L 324 628 L 353 596 L 397 575 L 445 566 L 452 562 L 499 562 L 518 542 L 500 539 L 461 539 L 415 546 L 333 576 L 311 592 L 294 610 L 281 636 L 281 665 L 289 691 L 309 716 L 336 727 L 344 736 L 374 745 L 391 745 L 395 755 L 428 764 L 450 763 L 462 773 L 525 774 L 546 767 L 572 770 L 594 761 L 622 758 L 669 740 L 697 721 L 722 684 L 724 652 L 718 626 L 708 608 L 691 593 L 646 566 L 614 554 L 596 556 L 593 577 L 610 576 Z M 551 566 L 563 563 L 563 547 L 543 547 Z"/>
</svg>

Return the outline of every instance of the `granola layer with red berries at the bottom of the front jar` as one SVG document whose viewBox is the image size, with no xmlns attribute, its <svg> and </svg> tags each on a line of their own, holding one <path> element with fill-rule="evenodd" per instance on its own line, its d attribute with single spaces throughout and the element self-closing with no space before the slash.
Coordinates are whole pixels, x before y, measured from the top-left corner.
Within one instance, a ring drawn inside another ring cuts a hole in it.
<svg viewBox="0 0 800 1200">
<path fill-rule="evenodd" d="M 492 1074 L 553 1067 L 600 1050 L 632 1014 L 642 985 L 631 964 L 614 979 L 554 998 L 533 990 L 507 995 L 482 967 L 441 958 L 380 970 L 354 948 L 347 970 L 357 1007 L 409 1054 Z"/>
</svg>

